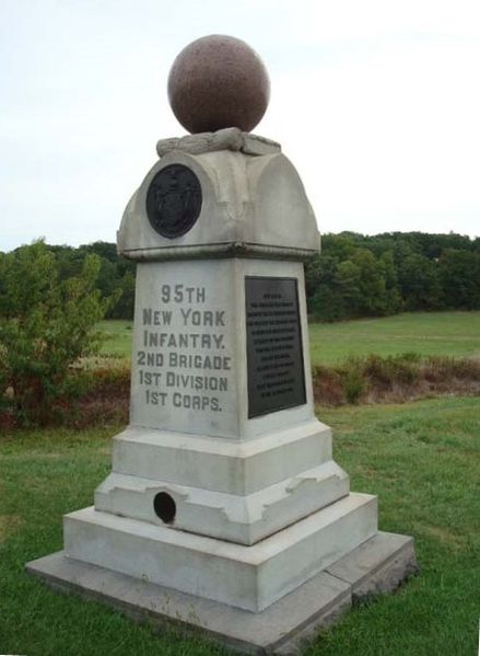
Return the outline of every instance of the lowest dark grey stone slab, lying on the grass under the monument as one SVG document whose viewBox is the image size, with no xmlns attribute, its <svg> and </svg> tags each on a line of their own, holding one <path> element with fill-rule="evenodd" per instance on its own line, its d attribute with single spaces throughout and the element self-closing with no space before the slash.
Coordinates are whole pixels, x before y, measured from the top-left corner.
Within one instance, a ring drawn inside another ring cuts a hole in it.
<svg viewBox="0 0 480 656">
<path fill-rule="evenodd" d="M 246 654 L 288 655 L 365 596 L 395 590 L 417 573 L 413 539 L 378 532 L 261 612 L 249 612 L 66 557 L 32 561 L 27 572 L 66 592 L 136 620 L 204 635 Z"/>
</svg>

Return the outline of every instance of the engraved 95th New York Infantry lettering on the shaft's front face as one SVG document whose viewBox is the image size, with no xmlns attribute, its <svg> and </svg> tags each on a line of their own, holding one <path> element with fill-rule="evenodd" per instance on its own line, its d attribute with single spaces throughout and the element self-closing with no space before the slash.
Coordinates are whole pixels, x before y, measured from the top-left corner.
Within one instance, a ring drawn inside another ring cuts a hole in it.
<svg viewBox="0 0 480 656">
<path fill-rule="evenodd" d="M 138 317 L 137 383 L 148 406 L 222 412 L 232 388 L 229 313 L 208 287 L 161 285 Z"/>
</svg>

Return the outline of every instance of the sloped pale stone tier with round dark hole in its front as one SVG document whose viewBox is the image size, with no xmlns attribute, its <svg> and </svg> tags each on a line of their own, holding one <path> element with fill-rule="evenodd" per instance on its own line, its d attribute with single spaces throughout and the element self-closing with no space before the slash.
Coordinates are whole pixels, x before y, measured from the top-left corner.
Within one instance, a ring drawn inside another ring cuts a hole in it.
<svg viewBox="0 0 480 656">
<path fill-rule="evenodd" d="M 231 464 L 235 467 L 234 462 Z M 159 493 L 174 499 L 176 511 L 171 526 L 199 536 L 255 544 L 315 513 L 319 506 L 347 496 L 349 477 L 330 460 L 244 496 L 112 473 L 95 491 L 95 508 L 161 526 L 162 519 L 154 511 Z"/>
</svg>

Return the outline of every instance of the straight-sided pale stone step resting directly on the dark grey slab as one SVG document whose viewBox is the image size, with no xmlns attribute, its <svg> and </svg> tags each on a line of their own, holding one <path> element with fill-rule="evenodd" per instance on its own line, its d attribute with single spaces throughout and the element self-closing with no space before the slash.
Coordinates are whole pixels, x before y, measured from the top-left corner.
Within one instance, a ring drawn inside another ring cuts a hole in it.
<svg viewBox="0 0 480 656">
<path fill-rule="evenodd" d="M 84 508 L 63 518 L 66 555 L 257 612 L 377 532 L 377 499 L 351 493 L 250 546 Z"/>
</svg>

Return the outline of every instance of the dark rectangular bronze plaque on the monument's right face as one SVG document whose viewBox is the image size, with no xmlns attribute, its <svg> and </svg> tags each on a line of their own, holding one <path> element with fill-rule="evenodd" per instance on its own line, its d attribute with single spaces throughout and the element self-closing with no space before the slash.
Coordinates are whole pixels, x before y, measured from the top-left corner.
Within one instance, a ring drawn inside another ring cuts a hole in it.
<svg viewBox="0 0 480 656">
<path fill-rule="evenodd" d="M 296 278 L 245 278 L 248 418 L 306 403 Z"/>
</svg>

